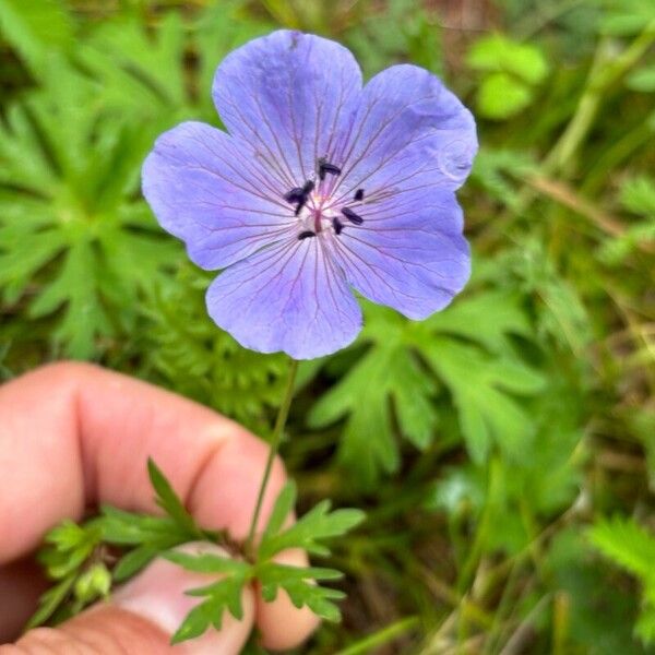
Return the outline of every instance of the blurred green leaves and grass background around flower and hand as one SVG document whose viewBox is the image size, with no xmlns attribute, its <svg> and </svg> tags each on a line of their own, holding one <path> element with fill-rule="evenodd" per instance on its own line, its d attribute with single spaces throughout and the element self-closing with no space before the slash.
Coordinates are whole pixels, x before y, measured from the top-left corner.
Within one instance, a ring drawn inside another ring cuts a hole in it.
<svg viewBox="0 0 655 655">
<path fill-rule="evenodd" d="M 369 514 L 302 652 L 655 652 L 653 0 L 0 0 L 1 378 L 88 359 L 266 433 L 285 360 L 211 323 L 139 176 L 279 25 L 443 76 L 481 142 L 466 291 L 301 369 L 300 510 Z"/>
</svg>

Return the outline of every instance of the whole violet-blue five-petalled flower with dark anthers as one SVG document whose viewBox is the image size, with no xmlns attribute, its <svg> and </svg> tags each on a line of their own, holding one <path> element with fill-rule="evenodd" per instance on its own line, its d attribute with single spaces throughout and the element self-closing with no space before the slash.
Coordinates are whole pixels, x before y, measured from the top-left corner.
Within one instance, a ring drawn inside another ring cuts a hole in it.
<svg viewBox="0 0 655 655">
<path fill-rule="evenodd" d="M 159 136 L 143 191 L 193 262 L 226 269 L 207 309 L 243 346 L 319 357 L 361 327 L 352 289 L 410 319 L 462 289 L 475 122 L 434 75 L 394 66 L 362 87 L 346 48 L 281 31 L 229 55 L 213 96 L 227 132 Z"/>
</svg>

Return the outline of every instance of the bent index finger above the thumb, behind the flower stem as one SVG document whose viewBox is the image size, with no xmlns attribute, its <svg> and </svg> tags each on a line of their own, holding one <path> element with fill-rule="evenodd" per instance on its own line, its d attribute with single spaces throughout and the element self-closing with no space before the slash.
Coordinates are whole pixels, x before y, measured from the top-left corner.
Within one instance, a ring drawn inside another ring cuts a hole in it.
<svg viewBox="0 0 655 655">
<path fill-rule="evenodd" d="M 87 504 L 157 511 L 148 456 L 203 526 L 243 538 L 266 455 L 243 428 L 175 394 L 90 365 L 44 367 L 0 388 L 0 563 Z M 260 526 L 284 479 L 276 460 Z M 308 634 L 303 616 L 288 621 Z"/>
</svg>

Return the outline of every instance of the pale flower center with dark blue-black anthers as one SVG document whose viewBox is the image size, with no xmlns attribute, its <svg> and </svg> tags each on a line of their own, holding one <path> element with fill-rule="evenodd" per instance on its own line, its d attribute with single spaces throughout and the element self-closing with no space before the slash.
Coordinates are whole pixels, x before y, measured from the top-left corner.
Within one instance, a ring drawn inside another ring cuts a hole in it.
<svg viewBox="0 0 655 655">
<path fill-rule="evenodd" d="M 322 192 L 321 187 L 323 187 L 325 177 L 327 175 L 336 177 L 341 172 L 342 169 L 336 164 L 327 162 L 326 157 L 320 157 L 317 162 L 317 174 L 320 180 L 319 189 L 315 189 L 314 180 L 309 179 L 302 187 L 294 187 L 283 195 L 288 203 L 296 205 L 294 215 L 298 217 L 299 240 L 317 237 L 320 234 L 338 236 L 346 225 L 343 218 L 355 226 L 364 223 L 364 218 L 352 206 L 345 206 L 344 204 L 344 206 L 336 209 L 332 203 L 332 198 Z M 357 205 L 362 202 L 364 189 L 357 189 L 352 202 L 347 204 Z"/>
</svg>

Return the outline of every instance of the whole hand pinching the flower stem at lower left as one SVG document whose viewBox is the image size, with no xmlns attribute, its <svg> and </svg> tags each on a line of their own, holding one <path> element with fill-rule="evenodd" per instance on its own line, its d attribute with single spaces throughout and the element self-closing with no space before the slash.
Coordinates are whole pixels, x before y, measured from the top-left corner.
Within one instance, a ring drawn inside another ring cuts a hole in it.
<svg viewBox="0 0 655 655">
<path fill-rule="evenodd" d="M 45 588 L 28 556 L 47 529 L 63 519 L 78 521 L 99 503 L 157 512 L 148 456 L 200 525 L 243 539 L 266 454 L 262 441 L 210 409 L 94 366 L 50 365 L 1 386 L 0 644 L 16 636 Z M 277 460 L 260 526 L 284 479 Z M 307 557 L 288 552 L 283 561 L 303 565 Z M 264 603 L 247 588 L 241 621 L 226 615 L 221 632 L 170 646 L 170 635 L 198 603 L 183 592 L 199 582 L 206 576 L 157 560 L 108 603 L 0 645 L 0 655 L 230 655 L 253 626 L 273 650 L 297 645 L 315 628 L 311 611 L 296 609 L 284 592 Z"/>
</svg>

